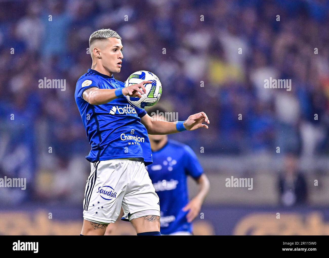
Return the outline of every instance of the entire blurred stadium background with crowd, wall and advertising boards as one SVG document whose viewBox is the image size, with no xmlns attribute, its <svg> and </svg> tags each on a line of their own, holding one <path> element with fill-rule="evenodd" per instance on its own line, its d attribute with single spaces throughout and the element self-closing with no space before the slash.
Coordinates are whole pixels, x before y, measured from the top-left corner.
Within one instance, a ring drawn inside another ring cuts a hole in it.
<svg viewBox="0 0 329 258">
<path fill-rule="evenodd" d="M 0 234 L 80 233 L 90 165 L 74 90 L 91 66 L 89 35 L 112 28 L 124 45 L 116 78 L 152 71 L 158 105 L 211 121 L 169 136 L 190 145 L 211 181 L 196 235 L 328 235 L 328 11 L 324 0 L 2 1 L 0 177 L 26 178 L 27 189 L 0 188 Z M 66 90 L 38 88 L 44 77 Z M 265 89 L 269 77 L 292 90 Z M 303 182 L 295 201 L 279 185 L 292 156 Z M 231 176 L 253 178 L 253 189 L 225 187 Z M 125 222 L 117 233 L 134 234 Z"/>
</svg>

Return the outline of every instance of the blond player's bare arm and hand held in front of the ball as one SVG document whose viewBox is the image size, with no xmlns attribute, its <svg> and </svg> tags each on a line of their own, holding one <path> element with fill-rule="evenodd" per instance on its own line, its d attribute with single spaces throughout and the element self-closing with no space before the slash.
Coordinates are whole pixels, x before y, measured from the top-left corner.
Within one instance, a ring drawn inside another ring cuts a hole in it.
<svg viewBox="0 0 329 258">
<path fill-rule="evenodd" d="M 122 88 L 122 94 L 124 96 L 139 97 L 141 94 L 146 93 L 144 84 L 151 83 L 150 81 L 143 81 L 139 84 L 130 85 L 129 87 Z M 116 98 L 116 89 L 99 89 L 97 87 L 92 87 L 85 90 L 82 94 L 82 98 L 86 100 L 91 105 L 101 105 L 108 103 Z"/>
</svg>

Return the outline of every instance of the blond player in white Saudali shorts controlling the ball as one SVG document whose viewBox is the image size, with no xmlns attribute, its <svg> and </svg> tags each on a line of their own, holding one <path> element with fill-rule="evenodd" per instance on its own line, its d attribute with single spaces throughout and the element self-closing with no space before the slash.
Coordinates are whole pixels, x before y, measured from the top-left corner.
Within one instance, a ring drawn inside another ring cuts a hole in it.
<svg viewBox="0 0 329 258">
<path fill-rule="evenodd" d="M 104 235 L 118 218 L 121 206 L 137 235 L 160 235 L 159 197 L 145 166 L 152 163 L 149 134 L 208 129 L 204 112 L 177 123 L 158 121 L 131 105 L 125 96 L 146 93 L 142 83 L 124 87 L 114 78 L 121 70 L 121 37 L 101 29 L 90 35 L 91 69 L 76 84 L 75 101 L 91 150 L 86 159 L 91 173 L 84 199 L 81 235 Z"/>
</svg>

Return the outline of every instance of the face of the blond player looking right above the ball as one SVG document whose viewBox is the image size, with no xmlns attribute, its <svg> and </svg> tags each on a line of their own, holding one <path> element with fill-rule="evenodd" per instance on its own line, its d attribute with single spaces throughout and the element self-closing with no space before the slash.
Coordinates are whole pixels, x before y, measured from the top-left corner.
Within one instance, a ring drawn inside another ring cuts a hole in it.
<svg viewBox="0 0 329 258">
<path fill-rule="evenodd" d="M 111 73 L 121 71 L 121 63 L 123 59 L 123 46 L 121 40 L 117 38 L 108 38 L 104 49 L 102 49 L 102 65 Z"/>
</svg>

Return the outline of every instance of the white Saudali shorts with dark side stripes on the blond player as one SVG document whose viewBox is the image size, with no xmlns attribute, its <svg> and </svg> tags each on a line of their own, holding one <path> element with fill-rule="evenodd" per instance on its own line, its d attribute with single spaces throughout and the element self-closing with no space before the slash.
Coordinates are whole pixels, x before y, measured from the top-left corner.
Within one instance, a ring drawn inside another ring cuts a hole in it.
<svg viewBox="0 0 329 258">
<path fill-rule="evenodd" d="M 90 166 L 84 219 L 102 224 L 114 223 L 121 206 L 128 218 L 146 210 L 150 213 L 147 215 L 160 216 L 159 197 L 142 159 L 111 159 L 97 161 Z"/>
</svg>

